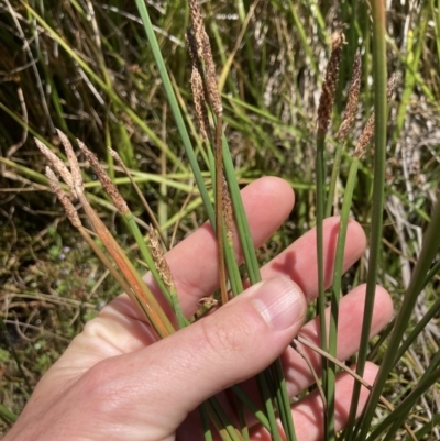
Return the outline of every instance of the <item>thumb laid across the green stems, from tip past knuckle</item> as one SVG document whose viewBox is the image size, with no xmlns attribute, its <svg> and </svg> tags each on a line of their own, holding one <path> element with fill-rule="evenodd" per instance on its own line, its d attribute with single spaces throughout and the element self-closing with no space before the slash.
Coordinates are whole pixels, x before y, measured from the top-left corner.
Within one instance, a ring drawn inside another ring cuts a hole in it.
<svg viewBox="0 0 440 441">
<path fill-rule="evenodd" d="M 306 307 L 295 283 L 272 278 L 164 340 L 163 348 L 157 344 L 172 377 L 167 386 L 174 406 L 188 414 L 220 390 L 263 371 L 299 332 Z M 182 399 L 175 400 L 176 395 Z"/>
</svg>

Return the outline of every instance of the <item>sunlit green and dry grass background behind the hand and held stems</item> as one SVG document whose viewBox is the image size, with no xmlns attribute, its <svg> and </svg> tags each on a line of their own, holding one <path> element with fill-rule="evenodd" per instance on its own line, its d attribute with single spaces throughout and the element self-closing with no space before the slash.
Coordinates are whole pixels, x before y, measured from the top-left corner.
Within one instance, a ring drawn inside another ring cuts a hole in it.
<svg viewBox="0 0 440 441">
<path fill-rule="evenodd" d="M 398 310 L 403 294 L 410 286 L 413 260 L 417 261 L 420 254 L 420 234 L 431 217 L 440 180 L 440 7 L 433 0 L 421 5 L 409 1 L 391 3 L 386 67 L 396 73 L 398 87 L 389 103 L 387 137 L 383 140 L 384 227 L 375 253 L 378 282 L 392 293 Z M 112 146 L 131 169 L 153 210 L 161 213 L 161 223 L 168 233 L 176 232 L 176 240 L 206 219 L 200 198 L 206 201 L 212 191 L 206 173 L 199 179 L 206 183 L 208 194 L 200 195 L 193 183 L 184 159 L 182 130 L 175 125 L 166 104 L 157 63 L 145 44 L 134 2 L 119 0 L 110 7 L 98 1 L 63 0 L 54 8 L 48 4 L 6 0 L 0 5 L 0 20 L 4 22 L 0 31 L 0 305 L 31 387 L 84 323 L 116 295 L 48 191 L 44 162 L 31 134 L 55 144 L 54 151 L 61 156 L 54 128 L 81 139 L 101 158 L 107 158 L 108 173 L 116 177 L 133 216 L 148 223 L 150 216 L 107 152 Z M 189 128 L 197 154 L 194 165 L 207 169 L 209 158 L 195 128 L 188 86 L 190 60 L 183 30 L 189 24 L 189 11 L 179 2 L 168 2 L 148 5 L 148 12 L 170 76 L 168 95 L 176 95 L 179 101 L 179 124 Z M 239 185 L 258 176 L 276 175 L 286 178 L 296 190 L 296 208 L 267 246 L 258 251 L 261 263 L 316 222 L 316 150 L 310 140 L 316 131 L 317 90 L 323 80 L 320 73 L 329 58 L 331 26 L 338 19 L 353 25 L 345 30 L 336 112 L 326 139 L 322 167 L 328 175 L 337 148 L 333 126 L 338 128 L 346 101 L 359 38 L 363 48 L 361 107 L 353 134 L 342 152 L 336 186 L 334 211 L 341 209 L 353 144 L 375 99 L 370 87 L 376 64 L 369 18 L 363 3 L 350 1 L 334 9 L 319 7 L 315 1 L 288 7 L 276 0 L 244 2 L 240 7 L 227 1 L 208 3 L 205 12 L 223 85 L 226 139 Z M 367 150 L 359 163 L 351 205 L 352 216 L 367 234 L 378 219 L 371 210 L 376 185 L 372 164 L 377 152 Z M 90 174 L 86 189 L 119 242 L 124 247 L 132 245 L 127 224 L 114 217 L 114 208 Z M 374 225 L 373 229 L 382 230 Z M 138 256 L 136 251 L 132 253 Z M 365 282 L 370 265 L 365 256 L 342 278 L 342 290 Z M 437 278 L 418 297 L 405 327 L 406 334 L 436 305 L 438 285 Z M 438 351 L 436 323 L 433 318 L 388 377 L 384 387 L 392 403 L 409 395 L 427 370 L 427 360 Z M 1 403 L 18 415 L 30 390 L 3 339 L 0 344 Z M 382 360 L 383 350 L 376 356 L 376 362 Z M 415 408 L 418 418 L 430 420 L 432 412 L 439 412 L 435 388 L 436 383 L 424 392 L 424 400 Z M 4 431 L 10 422 L 7 416 L 3 418 Z M 424 425 L 419 426 L 422 430 Z M 436 432 L 427 433 L 426 437 L 433 438 L 426 439 L 435 439 Z"/>
</svg>

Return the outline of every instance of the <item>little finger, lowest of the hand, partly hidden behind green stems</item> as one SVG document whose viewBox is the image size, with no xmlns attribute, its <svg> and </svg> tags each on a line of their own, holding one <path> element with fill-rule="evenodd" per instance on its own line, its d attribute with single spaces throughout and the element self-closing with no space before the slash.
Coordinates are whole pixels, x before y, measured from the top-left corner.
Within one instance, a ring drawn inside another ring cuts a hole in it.
<svg viewBox="0 0 440 441">
<path fill-rule="evenodd" d="M 355 366 L 351 367 L 353 371 Z M 363 378 L 370 385 L 373 385 L 374 379 L 377 375 L 378 367 L 373 363 L 366 363 L 365 372 Z M 342 373 L 337 377 L 336 383 L 336 412 L 334 422 L 336 430 L 339 431 L 346 426 L 351 398 L 353 392 L 354 378 L 348 374 Z M 366 400 L 369 398 L 370 392 L 365 388 L 361 388 L 360 400 L 358 406 L 359 417 L 362 409 L 365 407 Z M 322 399 L 318 390 L 315 390 L 307 397 L 302 398 L 293 406 L 293 418 L 295 426 L 295 433 L 298 441 L 318 441 L 322 440 L 323 437 L 323 415 L 324 410 L 322 407 Z M 268 441 L 271 437 L 267 431 L 262 429 L 260 426 L 251 430 L 252 439 L 257 439 L 261 441 Z"/>
</svg>

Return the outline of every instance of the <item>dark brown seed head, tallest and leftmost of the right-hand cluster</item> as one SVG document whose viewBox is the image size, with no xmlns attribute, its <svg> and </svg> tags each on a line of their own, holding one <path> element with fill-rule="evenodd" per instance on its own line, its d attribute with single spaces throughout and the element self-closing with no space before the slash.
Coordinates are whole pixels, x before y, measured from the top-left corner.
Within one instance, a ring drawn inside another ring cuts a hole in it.
<svg viewBox="0 0 440 441">
<path fill-rule="evenodd" d="M 318 133 L 324 135 L 327 133 L 331 112 L 333 110 L 334 91 L 339 77 L 339 64 L 342 56 L 342 46 L 345 43 L 344 34 L 338 30 L 331 36 L 331 55 L 327 65 L 326 78 L 322 84 L 322 92 L 318 106 Z"/>
</svg>

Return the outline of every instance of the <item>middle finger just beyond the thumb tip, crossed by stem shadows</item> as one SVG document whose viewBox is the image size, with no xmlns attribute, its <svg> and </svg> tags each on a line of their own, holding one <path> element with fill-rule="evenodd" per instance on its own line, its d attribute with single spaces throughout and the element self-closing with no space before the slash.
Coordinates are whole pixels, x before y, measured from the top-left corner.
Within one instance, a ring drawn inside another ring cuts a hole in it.
<svg viewBox="0 0 440 441">
<path fill-rule="evenodd" d="M 324 285 L 328 288 L 333 278 L 334 254 L 338 241 L 340 219 L 328 218 L 323 222 L 323 262 Z M 263 278 L 284 276 L 292 278 L 311 301 L 318 296 L 318 258 L 316 228 L 308 231 L 295 241 L 283 253 L 262 268 Z M 345 272 L 363 254 L 366 246 L 366 238 L 362 227 L 349 221 L 343 261 Z"/>
</svg>

